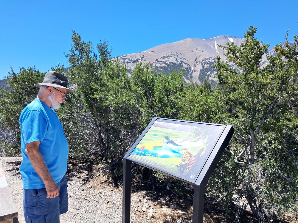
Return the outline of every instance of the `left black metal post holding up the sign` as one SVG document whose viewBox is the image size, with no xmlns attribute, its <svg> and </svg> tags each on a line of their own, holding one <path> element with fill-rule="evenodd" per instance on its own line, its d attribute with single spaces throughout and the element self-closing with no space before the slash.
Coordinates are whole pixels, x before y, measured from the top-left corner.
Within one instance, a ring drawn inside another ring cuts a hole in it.
<svg viewBox="0 0 298 223">
<path fill-rule="evenodd" d="M 123 158 L 122 223 L 130 223 L 131 161 Z"/>
</svg>

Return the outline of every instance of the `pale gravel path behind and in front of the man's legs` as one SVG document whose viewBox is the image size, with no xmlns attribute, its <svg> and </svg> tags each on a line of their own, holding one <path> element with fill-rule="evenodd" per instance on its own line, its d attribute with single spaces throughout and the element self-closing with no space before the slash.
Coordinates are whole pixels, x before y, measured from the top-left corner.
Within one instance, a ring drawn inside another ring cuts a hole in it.
<svg viewBox="0 0 298 223">
<path fill-rule="evenodd" d="M 1 163 L 13 201 L 19 211 L 18 222 L 25 223 L 23 215 L 23 185 L 18 172 L 21 157 L 2 157 Z M 69 211 L 60 216 L 60 222 L 105 222 L 116 223 L 122 220 L 122 189 L 111 185 L 89 182 L 82 186 L 82 180 L 68 181 Z"/>
</svg>

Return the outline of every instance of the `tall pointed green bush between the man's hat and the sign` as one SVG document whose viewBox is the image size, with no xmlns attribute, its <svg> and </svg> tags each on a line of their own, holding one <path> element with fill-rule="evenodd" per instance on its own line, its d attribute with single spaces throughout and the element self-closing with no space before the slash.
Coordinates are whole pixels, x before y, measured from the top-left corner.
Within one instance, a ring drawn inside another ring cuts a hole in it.
<svg viewBox="0 0 298 223">
<path fill-rule="evenodd" d="M 131 84 L 124 65 L 111 60 L 105 40 L 94 52 L 73 32 L 67 58 L 74 86 L 81 92 L 86 110 L 96 126 L 96 141 L 90 152 L 100 154 L 104 161 L 117 160 L 137 136 L 137 105 L 131 95 Z M 127 142 L 123 144 L 120 142 Z"/>
</svg>

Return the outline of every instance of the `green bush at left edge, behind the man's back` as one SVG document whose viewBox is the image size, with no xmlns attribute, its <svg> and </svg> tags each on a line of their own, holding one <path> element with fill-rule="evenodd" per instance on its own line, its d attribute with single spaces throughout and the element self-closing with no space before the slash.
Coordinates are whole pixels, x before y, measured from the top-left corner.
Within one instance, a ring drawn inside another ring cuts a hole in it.
<svg viewBox="0 0 298 223">
<path fill-rule="evenodd" d="M 20 153 L 20 127 L 19 117 L 23 108 L 30 103 L 37 95 L 38 88 L 34 87 L 36 81 L 43 80 L 44 73 L 35 67 L 28 69 L 21 68 L 19 73 L 15 73 L 11 68 L 11 73 L 7 76 L 7 89 L 0 90 L 0 126 L 2 137 L 2 153 L 12 155 Z"/>
</svg>

